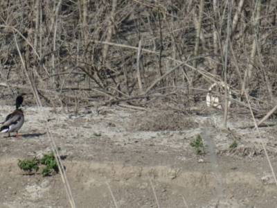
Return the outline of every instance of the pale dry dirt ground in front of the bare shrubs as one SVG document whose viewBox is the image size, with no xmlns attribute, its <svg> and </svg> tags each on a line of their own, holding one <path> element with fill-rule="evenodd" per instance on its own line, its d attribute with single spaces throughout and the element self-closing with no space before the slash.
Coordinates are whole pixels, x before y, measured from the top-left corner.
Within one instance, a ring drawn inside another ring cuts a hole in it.
<svg viewBox="0 0 277 208">
<path fill-rule="evenodd" d="M 1 105 L 0 119 L 12 106 Z M 0 207 L 69 207 L 59 174 L 24 175 L 18 159 L 51 151 L 45 118 L 26 107 L 21 138 L 0 137 Z M 175 110 L 91 107 L 75 115 L 45 107 L 77 207 L 267 207 L 277 187 L 260 141 L 277 172 L 276 127 L 251 128 L 247 116 Z M 201 135 L 205 155 L 190 142 Z M 238 147 L 231 149 L 233 141 Z M 151 185 L 152 184 L 152 185 Z M 111 192 L 116 205 L 111 198 Z M 154 191 L 153 191 L 154 189 Z M 155 200 L 154 193 L 157 196 Z"/>
</svg>

